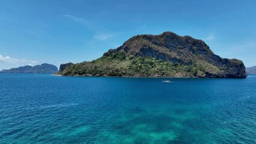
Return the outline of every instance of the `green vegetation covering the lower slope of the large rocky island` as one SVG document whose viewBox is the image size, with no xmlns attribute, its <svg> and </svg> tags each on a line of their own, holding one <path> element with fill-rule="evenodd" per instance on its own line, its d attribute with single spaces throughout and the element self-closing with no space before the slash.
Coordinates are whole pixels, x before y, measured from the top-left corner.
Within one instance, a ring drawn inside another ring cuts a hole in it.
<svg viewBox="0 0 256 144">
<path fill-rule="evenodd" d="M 174 64 L 150 57 L 136 57 L 124 52 L 105 53 L 91 62 L 71 65 L 64 76 L 124 76 L 124 77 L 196 77 L 204 76 L 201 65 Z"/>
</svg>

